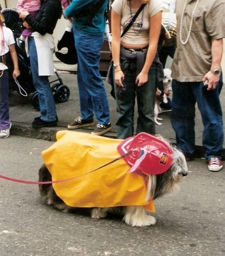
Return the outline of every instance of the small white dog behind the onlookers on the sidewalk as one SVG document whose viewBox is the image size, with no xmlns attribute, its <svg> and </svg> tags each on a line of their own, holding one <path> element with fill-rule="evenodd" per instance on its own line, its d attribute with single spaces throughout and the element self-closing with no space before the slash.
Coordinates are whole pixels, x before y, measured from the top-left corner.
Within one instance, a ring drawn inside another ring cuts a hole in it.
<svg viewBox="0 0 225 256">
<path fill-rule="evenodd" d="M 171 69 L 164 68 L 163 71 L 164 71 L 164 78 L 162 82 L 163 82 L 164 92 L 161 92 L 161 90 L 157 88 L 156 99 L 155 99 L 154 120 L 156 125 L 162 125 L 162 123 L 159 122 L 162 120 L 162 118 L 159 118 L 159 114 L 162 112 L 160 104 L 161 102 L 164 102 L 164 103 L 168 102 L 167 95 L 169 95 L 172 91 L 171 83 L 173 78 L 171 77 Z"/>
</svg>

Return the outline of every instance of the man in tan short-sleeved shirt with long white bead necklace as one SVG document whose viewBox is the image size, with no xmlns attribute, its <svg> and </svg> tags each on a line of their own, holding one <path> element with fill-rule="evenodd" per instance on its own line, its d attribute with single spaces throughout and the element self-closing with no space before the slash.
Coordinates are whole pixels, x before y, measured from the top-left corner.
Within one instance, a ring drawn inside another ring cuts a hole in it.
<svg viewBox="0 0 225 256">
<path fill-rule="evenodd" d="M 187 159 L 195 151 L 195 105 L 202 116 L 202 145 L 209 171 L 222 169 L 221 76 L 222 38 L 225 37 L 222 0 L 177 1 L 177 48 L 171 66 L 173 105 L 171 124 L 178 148 Z M 207 85 L 206 85 L 207 83 Z M 205 86 L 204 86 L 205 85 Z"/>
</svg>

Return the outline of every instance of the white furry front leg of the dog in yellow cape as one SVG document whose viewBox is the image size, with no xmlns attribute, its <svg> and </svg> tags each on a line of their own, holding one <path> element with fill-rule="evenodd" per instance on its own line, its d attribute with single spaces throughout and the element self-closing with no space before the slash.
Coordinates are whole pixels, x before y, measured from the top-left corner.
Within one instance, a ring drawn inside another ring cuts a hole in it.
<svg viewBox="0 0 225 256">
<path fill-rule="evenodd" d="M 127 206 L 125 217 L 126 224 L 137 227 L 150 226 L 155 224 L 155 218 L 146 214 L 142 206 Z"/>
</svg>

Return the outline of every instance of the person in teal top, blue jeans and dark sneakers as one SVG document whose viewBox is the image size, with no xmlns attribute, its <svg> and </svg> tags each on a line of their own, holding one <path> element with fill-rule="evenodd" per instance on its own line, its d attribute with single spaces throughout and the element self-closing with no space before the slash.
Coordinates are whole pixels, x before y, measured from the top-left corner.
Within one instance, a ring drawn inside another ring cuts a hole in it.
<svg viewBox="0 0 225 256">
<path fill-rule="evenodd" d="M 73 18 L 73 35 L 78 56 L 78 90 L 81 116 L 68 129 L 97 126 L 92 134 L 104 135 L 111 130 L 106 89 L 100 76 L 100 48 L 104 41 L 108 0 L 73 0 L 64 16 Z"/>
</svg>

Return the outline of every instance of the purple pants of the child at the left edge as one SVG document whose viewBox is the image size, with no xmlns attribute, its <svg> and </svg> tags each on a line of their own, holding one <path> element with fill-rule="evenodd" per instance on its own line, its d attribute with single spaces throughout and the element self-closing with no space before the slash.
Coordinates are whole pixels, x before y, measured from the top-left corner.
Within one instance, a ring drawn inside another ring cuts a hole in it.
<svg viewBox="0 0 225 256">
<path fill-rule="evenodd" d="M 0 130 L 6 130 L 9 126 L 9 73 L 4 70 L 0 77 Z"/>
</svg>

